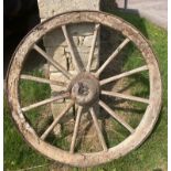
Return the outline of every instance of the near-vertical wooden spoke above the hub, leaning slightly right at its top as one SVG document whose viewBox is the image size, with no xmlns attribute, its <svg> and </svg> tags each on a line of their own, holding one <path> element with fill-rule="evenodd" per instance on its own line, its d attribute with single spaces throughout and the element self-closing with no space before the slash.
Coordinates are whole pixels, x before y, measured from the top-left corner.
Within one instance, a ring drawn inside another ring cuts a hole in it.
<svg viewBox="0 0 171 171">
<path fill-rule="evenodd" d="M 92 47 L 90 47 L 90 52 L 89 52 L 89 56 L 88 56 L 88 63 L 87 63 L 87 67 L 86 67 L 87 72 L 90 71 L 90 66 L 92 66 L 93 55 L 94 55 L 94 52 L 95 52 L 96 40 L 97 40 L 99 26 L 100 26 L 99 24 L 95 25 L 95 32 L 94 32 Z"/>
</svg>

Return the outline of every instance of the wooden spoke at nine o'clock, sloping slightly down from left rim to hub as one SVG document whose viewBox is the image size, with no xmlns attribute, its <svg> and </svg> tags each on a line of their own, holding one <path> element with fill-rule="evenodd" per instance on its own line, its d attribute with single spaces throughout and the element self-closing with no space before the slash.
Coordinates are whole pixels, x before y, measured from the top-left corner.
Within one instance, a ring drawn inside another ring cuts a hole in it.
<svg viewBox="0 0 171 171">
<path fill-rule="evenodd" d="M 57 85 L 57 86 L 62 86 L 62 87 L 67 86 L 67 84 L 65 82 L 51 81 L 51 79 L 41 78 L 41 77 L 32 76 L 32 75 L 25 75 L 25 74 L 20 75 L 20 78 L 26 79 L 26 81 L 33 81 L 33 82 L 38 82 L 38 83 L 53 84 L 53 85 Z"/>
</svg>

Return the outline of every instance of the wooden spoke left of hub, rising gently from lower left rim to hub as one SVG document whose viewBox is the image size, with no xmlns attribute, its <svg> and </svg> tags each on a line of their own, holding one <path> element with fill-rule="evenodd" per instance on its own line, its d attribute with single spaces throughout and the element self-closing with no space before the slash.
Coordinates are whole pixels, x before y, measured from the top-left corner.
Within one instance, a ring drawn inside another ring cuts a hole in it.
<svg viewBox="0 0 171 171">
<path fill-rule="evenodd" d="M 39 103 L 35 103 L 33 105 L 30 105 L 30 106 L 26 106 L 26 107 L 23 107 L 21 108 L 22 111 L 29 111 L 33 108 L 36 108 L 36 107 L 40 107 L 40 106 L 43 106 L 43 105 L 46 105 L 46 104 L 50 104 L 50 103 L 53 103 L 55 100 L 60 100 L 60 99 L 63 99 L 63 98 L 66 98 L 66 97 L 70 97 L 70 93 L 63 93 L 56 97 L 51 97 L 51 98 L 47 98 L 47 99 L 44 99 L 42 101 L 39 101 Z"/>
</svg>

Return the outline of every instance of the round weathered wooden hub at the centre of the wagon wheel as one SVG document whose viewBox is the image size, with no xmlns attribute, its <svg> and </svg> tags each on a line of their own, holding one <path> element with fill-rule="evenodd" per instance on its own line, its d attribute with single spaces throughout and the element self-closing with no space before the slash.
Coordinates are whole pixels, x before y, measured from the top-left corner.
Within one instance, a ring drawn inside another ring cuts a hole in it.
<svg viewBox="0 0 171 171">
<path fill-rule="evenodd" d="M 72 98 L 81 106 L 92 106 L 99 99 L 99 83 L 89 73 L 78 74 L 70 85 Z"/>
</svg>

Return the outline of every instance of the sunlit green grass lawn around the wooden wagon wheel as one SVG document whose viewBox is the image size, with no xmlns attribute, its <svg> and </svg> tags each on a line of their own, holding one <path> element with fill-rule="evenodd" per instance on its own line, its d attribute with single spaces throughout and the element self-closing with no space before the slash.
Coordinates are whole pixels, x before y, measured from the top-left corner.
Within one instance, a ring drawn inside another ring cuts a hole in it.
<svg viewBox="0 0 171 171">
<path fill-rule="evenodd" d="M 111 11 L 108 11 L 114 13 Z M 137 29 L 139 29 L 145 36 L 147 36 L 157 54 L 159 66 L 162 75 L 163 84 L 163 105 L 160 113 L 159 120 L 153 129 L 151 136 L 146 142 L 137 150 L 130 152 L 124 158 L 115 160 L 110 163 L 85 169 L 87 171 L 167 171 L 168 169 L 168 33 L 165 30 L 152 24 L 146 19 L 139 18 L 137 14 L 115 12 L 117 15 L 124 18 Z M 132 54 L 137 55 L 137 54 Z M 129 67 L 129 62 L 126 67 Z M 133 78 L 132 78 L 133 79 Z M 28 89 L 28 84 L 22 84 L 23 89 Z M 40 85 L 32 85 L 31 93 L 28 93 L 28 98 L 38 99 L 44 98 L 46 93 L 38 94 L 41 88 L 42 92 L 47 92 L 46 86 L 40 87 Z M 50 89 L 49 89 L 50 90 Z M 145 90 L 145 89 L 143 89 Z M 146 92 L 146 90 L 145 90 Z M 24 98 L 23 92 L 23 98 Z M 146 93 L 145 93 L 146 94 Z M 22 93 L 21 93 L 22 95 Z M 28 101 L 24 98 L 24 103 Z M 42 109 L 43 110 L 43 109 Z M 32 115 L 34 119 L 38 114 L 36 110 Z M 36 125 L 35 125 L 36 126 Z M 44 165 L 41 168 L 32 169 L 34 171 L 47 171 L 53 161 L 42 157 L 34 150 L 32 150 L 22 139 L 22 136 L 18 132 L 4 98 L 4 170 L 19 170 L 30 168 L 34 165 Z M 58 169 L 60 170 L 60 169 Z M 62 170 L 62 169 L 61 169 Z M 66 168 L 71 171 L 82 171 L 83 169 Z"/>
</svg>

